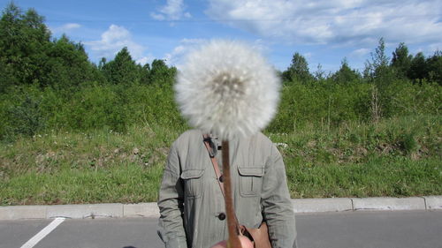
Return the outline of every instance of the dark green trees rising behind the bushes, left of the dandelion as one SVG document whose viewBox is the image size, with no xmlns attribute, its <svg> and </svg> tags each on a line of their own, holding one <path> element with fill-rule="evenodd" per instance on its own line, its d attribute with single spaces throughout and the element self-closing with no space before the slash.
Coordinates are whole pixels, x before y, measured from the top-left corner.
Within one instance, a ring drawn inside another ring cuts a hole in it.
<svg viewBox="0 0 442 248">
<path fill-rule="evenodd" d="M 0 20 L 0 93 L 11 86 L 38 85 L 64 88 L 84 83 L 150 84 L 171 82 L 176 72 L 164 60 L 136 64 L 127 48 L 109 62 L 91 63 L 81 43 L 66 35 L 52 38 L 44 18 L 9 4 Z"/>
</svg>

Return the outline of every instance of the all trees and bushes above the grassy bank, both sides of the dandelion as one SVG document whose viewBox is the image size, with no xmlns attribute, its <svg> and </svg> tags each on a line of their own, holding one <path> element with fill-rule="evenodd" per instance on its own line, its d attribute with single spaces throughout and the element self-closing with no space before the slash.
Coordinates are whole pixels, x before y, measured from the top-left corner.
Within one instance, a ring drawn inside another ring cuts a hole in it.
<svg viewBox="0 0 442 248">
<path fill-rule="evenodd" d="M 137 123 L 186 128 L 173 101 L 177 69 L 164 60 L 137 64 L 123 48 L 112 60 L 94 64 L 81 43 L 66 35 L 53 38 L 42 16 L 15 4 L 5 7 L 0 31 L 0 140 L 48 130 L 125 132 Z M 309 123 L 438 115 L 442 102 L 441 52 L 412 55 L 400 43 L 389 58 L 383 39 L 364 71 L 343 59 L 338 71 L 325 73 L 318 65 L 311 73 L 305 57 L 294 53 L 279 74 L 284 86 L 271 132 Z"/>
</svg>

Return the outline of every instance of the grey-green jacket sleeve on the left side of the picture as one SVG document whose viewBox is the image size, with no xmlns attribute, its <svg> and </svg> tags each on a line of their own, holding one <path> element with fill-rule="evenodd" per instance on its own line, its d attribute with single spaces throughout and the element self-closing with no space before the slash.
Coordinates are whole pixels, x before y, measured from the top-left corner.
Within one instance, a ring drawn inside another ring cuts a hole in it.
<svg viewBox="0 0 442 248">
<path fill-rule="evenodd" d="M 176 147 L 172 145 L 158 198 L 160 210 L 158 235 L 166 248 L 187 248 L 182 217 L 184 194 L 179 175 L 179 157 Z"/>
</svg>

